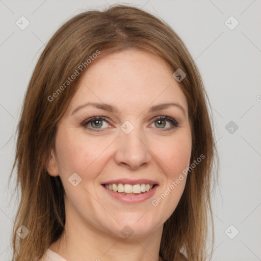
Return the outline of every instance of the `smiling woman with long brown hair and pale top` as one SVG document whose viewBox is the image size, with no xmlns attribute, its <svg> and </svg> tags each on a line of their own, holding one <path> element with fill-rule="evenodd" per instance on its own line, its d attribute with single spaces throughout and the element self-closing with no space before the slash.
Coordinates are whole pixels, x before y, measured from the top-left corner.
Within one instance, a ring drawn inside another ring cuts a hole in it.
<svg viewBox="0 0 261 261">
<path fill-rule="evenodd" d="M 118 5 L 63 24 L 19 122 L 13 260 L 204 260 L 206 100 L 186 46 L 151 14 Z"/>
</svg>

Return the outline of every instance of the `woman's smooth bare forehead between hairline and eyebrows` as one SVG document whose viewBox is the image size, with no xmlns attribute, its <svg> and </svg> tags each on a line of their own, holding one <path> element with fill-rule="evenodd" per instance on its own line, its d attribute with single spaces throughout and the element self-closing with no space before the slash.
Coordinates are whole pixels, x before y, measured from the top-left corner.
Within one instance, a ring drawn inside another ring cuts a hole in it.
<svg viewBox="0 0 261 261">
<path fill-rule="evenodd" d="M 69 110 L 89 101 L 104 102 L 119 110 L 147 108 L 161 102 L 178 102 L 187 110 L 187 99 L 158 56 L 125 50 L 92 62 L 82 76 Z"/>
</svg>

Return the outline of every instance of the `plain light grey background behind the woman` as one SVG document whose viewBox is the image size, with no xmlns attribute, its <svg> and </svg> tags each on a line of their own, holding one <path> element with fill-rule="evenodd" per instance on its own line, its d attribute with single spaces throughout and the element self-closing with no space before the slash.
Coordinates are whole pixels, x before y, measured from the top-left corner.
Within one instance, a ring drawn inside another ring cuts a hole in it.
<svg viewBox="0 0 261 261">
<path fill-rule="evenodd" d="M 37 59 L 62 22 L 89 8 L 114 3 L 134 4 L 164 19 L 189 48 L 210 97 L 220 155 L 219 187 L 213 194 L 212 260 L 261 260 L 261 5 L 258 0 L 0 0 L 0 260 L 11 260 L 11 228 L 17 202 L 10 202 L 15 180 L 8 188 L 8 177 L 21 103 Z M 25 30 L 16 25 L 21 16 L 30 21 Z M 233 30 L 225 24 L 230 16 L 239 21 Z M 231 126 L 226 127 L 230 121 L 233 121 L 232 134 Z M 234 123 L 239 126 L 236 131 Z M 225 233 L 230 225 L 233 227 Z M 227 235 L 233 237 L 236 229 L 239 234 L 230 239 Z"/>
</svg>

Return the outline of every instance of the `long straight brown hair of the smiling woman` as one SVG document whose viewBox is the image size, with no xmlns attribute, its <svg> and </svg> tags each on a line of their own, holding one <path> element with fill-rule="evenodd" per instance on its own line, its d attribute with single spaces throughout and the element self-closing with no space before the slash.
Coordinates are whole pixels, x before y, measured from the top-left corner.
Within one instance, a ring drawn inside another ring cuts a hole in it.
<svg viewBox="0 0 261 261">
<path fill-rule="evenodd" d="M 86 61 L 97 50 L 100 59 L 128 48 L 150 51 L 166 61 L 173 72 L 180 68 L 187 74 L 179 86 L 188 101 L 191 164 L 201 154 L 205 159 L 189 172 L 176 210 L 164 224 L 160 255 L 177 260 L 179 251 L 183 251 L 189 261 L 206 257 L 207 208 L 211 210 L 217 149 L 200 73 L 185 44 L 168 24 L 138 8 L 116 5 L 105 11 L 83 12 L 64 23 L 47 43 L 32 74 L 12 169 L 13 173 L 17 166 L 16 189 L 21 193 L 13 228 L 13 261 L 38 260 L 63 232 L 64 189 L 59 176 L 48 175 L 45 163 L 55 144 L 57 123 L 88 69 Z M 48 97 L 57 93 L 83 63 L 83 72 L 50 101 Z M 210 218 L 213 224 L 211 212 Z M 24 239 L 16 234 L 21 225 L 30 230 Z"/>
</svg>

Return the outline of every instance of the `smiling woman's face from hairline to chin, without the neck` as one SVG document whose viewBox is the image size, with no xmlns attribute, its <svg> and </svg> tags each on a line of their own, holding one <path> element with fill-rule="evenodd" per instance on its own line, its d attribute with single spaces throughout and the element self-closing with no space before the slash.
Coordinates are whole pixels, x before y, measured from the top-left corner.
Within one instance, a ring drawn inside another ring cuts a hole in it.
<svg viewBox="0 0 261 261">
<path fill-rule="evenodd" d="M 48 173 L 61 177 L 67 220 L 138 237 L 162 228 L 173 213 L 192 141 L 187 99 L 172 73 L 161 58 L 137 50 L 88 68 L 58 124 L 55 160 L 47 163 Z M 156 186 L 139 194 L 151 187 L 142 184 Z"/>
</svg>

